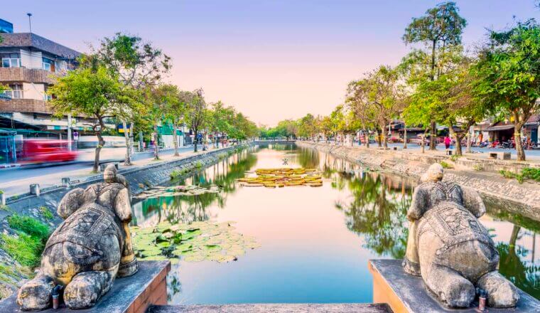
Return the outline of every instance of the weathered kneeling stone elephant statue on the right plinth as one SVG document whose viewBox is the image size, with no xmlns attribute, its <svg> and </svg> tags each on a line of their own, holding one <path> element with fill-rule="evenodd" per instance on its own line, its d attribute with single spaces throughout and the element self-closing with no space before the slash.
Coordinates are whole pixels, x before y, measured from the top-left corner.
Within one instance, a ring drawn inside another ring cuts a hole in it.
<svg viewBox="0 0 540 313">
<path fill-rule="evenodd" d="M 414 191 L 404 270 L 421 276 L 428 290 L 448 307 L 469 307 L 478 287 L 490 307 L 515 307 L 516 287 L 497 267 L 499 253 L 477 218 L 485 213 L 473 189 L 444 182 L 433 164 Z"/>
</svg>

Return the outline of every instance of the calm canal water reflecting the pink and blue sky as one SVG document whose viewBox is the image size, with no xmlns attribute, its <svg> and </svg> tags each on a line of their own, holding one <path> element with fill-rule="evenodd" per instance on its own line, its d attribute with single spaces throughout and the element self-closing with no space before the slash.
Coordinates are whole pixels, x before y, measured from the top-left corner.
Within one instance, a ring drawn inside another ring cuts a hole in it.
<svg viewBox="0 0 540 313">
<path fill-rule="evenodd" d="M 284 165 L 286 163 L 286 165 Z M 244 187 L 255 169 L 323 171 L 323 186 Z M 367 261 L 403 258 L 407 208 L 416 181 L 379 174 L 296 146 L 251 147 L 174 184 L 217 184 L 222 192 L 134 203 L 134 224 L 234 221 L 260 248 L 238 260 L 176 262 L 171 304 L 372 302 Z M 540 223 L 488 208 L 480 218 L 500 253 L 500 272 L 540 299 Z"/>
</svg>

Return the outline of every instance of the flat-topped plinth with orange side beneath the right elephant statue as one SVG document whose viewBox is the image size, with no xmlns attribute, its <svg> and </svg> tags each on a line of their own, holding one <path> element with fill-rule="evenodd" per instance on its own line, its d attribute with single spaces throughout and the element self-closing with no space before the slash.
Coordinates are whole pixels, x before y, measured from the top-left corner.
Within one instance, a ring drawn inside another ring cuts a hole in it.
<svg viewBox="0 0 540 313">
<path fill-rule="evenodd" d="M 422 277 L 409 275 L 401 266 L 402 260 L 369 260 L 369 272 L 373 275 L 373 302 L 387 303 L 394 312 L 449 312 L 438 302 L 437 297 L 426 290 Z M 540 301 L 519 290 L 517 307 L 496 309 L 488 307 L 490 313 L 540 312 Z M 451 312 L 477 312 L 477 299 L 466 309 L 451 309 Z"/>
</svg>

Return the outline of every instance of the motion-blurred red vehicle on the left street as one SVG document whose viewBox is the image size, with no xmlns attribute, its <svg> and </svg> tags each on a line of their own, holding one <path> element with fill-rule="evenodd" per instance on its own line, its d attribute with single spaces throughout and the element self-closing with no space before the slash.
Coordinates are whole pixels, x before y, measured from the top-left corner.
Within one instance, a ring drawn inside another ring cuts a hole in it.
<svg viewBox="0 0 540 313">
<path fill-rule="evenodd" d="M 75 161 L 77 155 L 76 151 L 70 151 L 67 140 L 25 139 L 23 142 L 24 164 Z"/>
</svg>

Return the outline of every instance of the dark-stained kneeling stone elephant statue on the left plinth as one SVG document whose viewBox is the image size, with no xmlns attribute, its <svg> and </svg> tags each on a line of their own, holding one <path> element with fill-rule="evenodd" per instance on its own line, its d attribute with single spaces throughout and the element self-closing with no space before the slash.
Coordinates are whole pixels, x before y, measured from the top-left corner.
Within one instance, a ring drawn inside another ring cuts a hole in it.
<svg viewBox="0 0 540 313">
<path fill-rule="evenodd" d="M 65 221 L 45 245 L 36 277 L 18 291 L 17 303 L 23 309 L 50 307 L 55 285 L 64 287 L 69 308 L 92 307 L 115 277 L 138 270 L 128 227 L 127 182 L 112 165 L 103 176 L 103 183 L 73 189 L 60 201 L 58 214 Z"/>
</svg>

